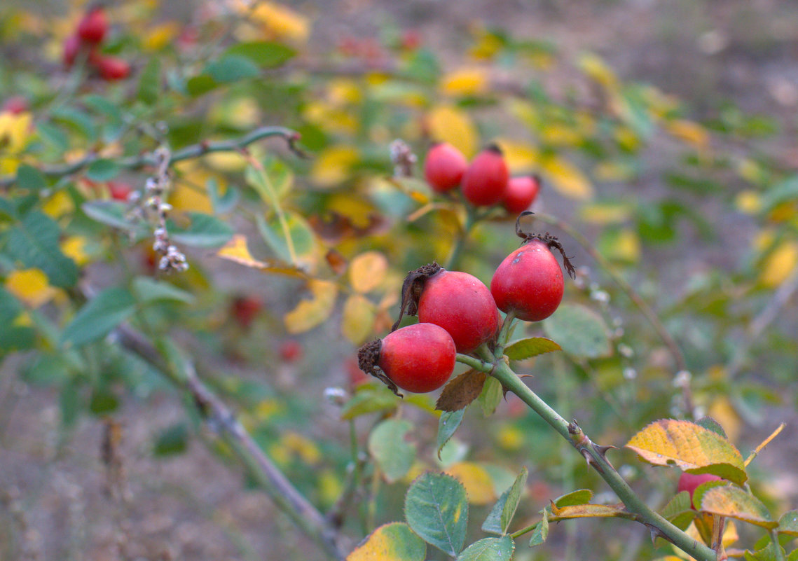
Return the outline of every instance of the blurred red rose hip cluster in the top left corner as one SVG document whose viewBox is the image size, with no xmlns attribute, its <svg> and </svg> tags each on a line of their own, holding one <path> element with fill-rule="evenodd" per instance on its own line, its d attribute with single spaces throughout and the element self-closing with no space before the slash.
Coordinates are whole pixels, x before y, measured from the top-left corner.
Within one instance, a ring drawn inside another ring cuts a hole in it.
<svg viewBox="0 0 798 561">
<path fill-rule="evenodd" d="M 108 34 L 108 17 L 102 6 L 90 8 L 77 24 L 77 30 L 64 41 L 64 65 L 75 64 L 81 50 L 89 52 L 89 64 L 107 81 L 122 80 L 130 75 L 128 61 L 100 52 L 99 47 Z"/>
</svg>

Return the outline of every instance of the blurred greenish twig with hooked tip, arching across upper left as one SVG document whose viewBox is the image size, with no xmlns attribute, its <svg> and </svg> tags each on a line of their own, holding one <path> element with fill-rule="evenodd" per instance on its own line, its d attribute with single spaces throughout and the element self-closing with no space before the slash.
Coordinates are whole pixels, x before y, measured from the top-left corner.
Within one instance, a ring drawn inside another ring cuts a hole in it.
<svg viewBox="0 0 798 561">
<path fill-rule="evenodd" d="M 247 132 L 247 134 L 238 139 L 220 140 L 219 142 L 209 142 L 207 140 L 203 140 L 203 142 L 199 142 L 198 144 L 192 144 L 191 146 L 180 148 L 180 150 L 172 153 L 170 165 L 176 164 L 182 160 L 198 158 L 199 156 L 210 154 L 211 152 L 239 152 L 250 144 L 271 136 L 282 137 L 288 143 L 288 148 L 291 152 L 294 152 L 296 155 L 303 158 L 307 157 L 306 152 L 303 152 L 301 148 L 298 148 L 298 132 L 284 127 L 259 127 L 255 128 L 255 130 L 251 132 Z M 99 159 L 100 156 L 96 152 L 92 152 L 80 160 L 74 161 L 72 164 L 45 166 L 40 168 L 39 172 L 49 177 L 69 176 L 89 167 L 92 162 Z M 159 164 L 159 161 L 160 160 L 155 152 L 145 152 L 139 156 L 128 156 L 125 158 L 120 158 L 119 160 L 114 160 L 114 162 L 120 168 L 124 169 L 140 169 L 146 166 L 156 166 Z M 16 176 L 0 177 L 0 188 L 7 188 L 14 184 L 16 180 Z"/>
</svg>

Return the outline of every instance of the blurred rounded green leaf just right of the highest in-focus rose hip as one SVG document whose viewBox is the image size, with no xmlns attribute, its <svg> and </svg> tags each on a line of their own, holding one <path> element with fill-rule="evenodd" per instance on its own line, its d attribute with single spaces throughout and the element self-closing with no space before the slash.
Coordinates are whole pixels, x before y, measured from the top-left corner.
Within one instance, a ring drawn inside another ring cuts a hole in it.
<svg viewBox="0 0 798 561">
<path fill-rule="evenodd" d="M 543 321 L 546 334 L 559 341 L 568 354 L 579 358 L 600 358 L 612 352 L 604 320 L 579 304 L 563 304 Z"/>
</svg>

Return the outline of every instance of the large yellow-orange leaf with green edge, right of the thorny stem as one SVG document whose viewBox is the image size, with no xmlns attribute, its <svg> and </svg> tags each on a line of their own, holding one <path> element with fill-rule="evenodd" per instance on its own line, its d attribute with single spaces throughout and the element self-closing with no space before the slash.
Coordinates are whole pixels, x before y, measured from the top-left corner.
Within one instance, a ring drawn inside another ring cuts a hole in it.
<svg viewBox="0 0 798 561">
<path fill-rule="evenodd" d="M 737 484 L 748 479 L 742 456 L 734 444 L 689 421 L 654 421 L 635 434 L 626 448 L 650 464 L 674 465 L 696 474 L 713 473 Z"/>
</svg>

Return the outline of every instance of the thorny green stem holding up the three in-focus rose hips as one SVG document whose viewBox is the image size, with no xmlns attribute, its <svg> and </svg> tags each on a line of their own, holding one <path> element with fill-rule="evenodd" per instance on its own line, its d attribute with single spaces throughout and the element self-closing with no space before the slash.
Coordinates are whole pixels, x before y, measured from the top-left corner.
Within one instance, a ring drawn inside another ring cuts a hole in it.
<svg viewBox="0 0 798 561">
<path fill-rule="evenodd" d="M 492 356 L 490 351 L 485 346 L 482 346 L 478 353 L 484 360 L 477 358 L 467 357 L 464 355 L 457 355 L 457 360 L 464 364 L 470 365 L 472 368 L 482 372 L 491 373 L 496 377 L 502 385 L 515 393 L 521 400 L 529 405 L 531 409 L 543 417 L 555 429 L 560 436 L 570 442 L 581 453 L 588 464 L 595 468 L 599 476 L 610 486 L 610 488 L 618 495 L 618 498 L 626 505 L 626 508 L 633 515 L 638 516 L 639 520 L 646 524 L 647 527 L 656 529 L 663 537 L 674 543 L 685 553 L 692 555 L 699 561 L 717 561 L 717 555 L 711 548 L 706 547 L 703 543 L 698 543 L 697 540 L 691 538 L 685 532 L 681 531 L 674 524 L 664 519 L 657 512 L 651 510 L 648 505 L 630 488 L 626 480 L 615 470 L 604 456 L 606 449 L 597 446 L 593 443 L 579 425 L 576 423 L 569 423 L 559 413 L 543 401 L 538 395 L 527 387 L 526 384 L 510 369 L 507 361 L 503 358 L 496 359 Z"/>
</svg>

